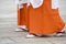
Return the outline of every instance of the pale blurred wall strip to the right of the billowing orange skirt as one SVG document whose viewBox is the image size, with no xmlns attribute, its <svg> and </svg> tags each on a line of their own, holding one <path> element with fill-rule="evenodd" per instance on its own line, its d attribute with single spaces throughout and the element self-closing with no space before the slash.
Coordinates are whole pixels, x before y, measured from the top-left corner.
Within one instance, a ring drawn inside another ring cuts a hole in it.
<svg viewBox="0 0 66 44">
<path fill-rule="evenodd" d="M 59 6 L 61 16 L 66 21 L 66 0 L 59 0 Z"/>
</svg>

